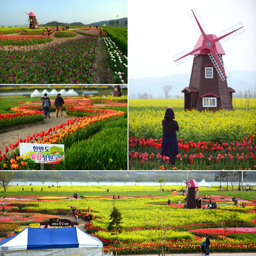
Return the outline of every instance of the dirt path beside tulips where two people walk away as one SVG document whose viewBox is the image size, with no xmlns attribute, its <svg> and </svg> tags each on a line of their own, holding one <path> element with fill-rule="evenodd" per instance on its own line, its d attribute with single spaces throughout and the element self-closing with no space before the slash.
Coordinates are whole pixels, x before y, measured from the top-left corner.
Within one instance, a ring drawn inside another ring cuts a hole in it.
<svg viewBox="0 0 256 256">
<path fill-rule="evenodd" d="M 11 128 L 0 130 L 0 150 L 4 153 L 4 146 L 8 147 L 9 144 L 15 144 L 18 139 L 26 139 L 27 136 L 32 136 L 33 133 L 37 134 L 41 131 L 48 131 L 49 127 L 54 127 L 67 122 L 68 119 L 74 117 L 67 116 L 63 112 L 63 119 L 55 118 L 55 113 L 50 113 L 50 119 L 44 119 L 43 122 L 36 122 L 27 125 L 18 125 Z"/>
</svg>

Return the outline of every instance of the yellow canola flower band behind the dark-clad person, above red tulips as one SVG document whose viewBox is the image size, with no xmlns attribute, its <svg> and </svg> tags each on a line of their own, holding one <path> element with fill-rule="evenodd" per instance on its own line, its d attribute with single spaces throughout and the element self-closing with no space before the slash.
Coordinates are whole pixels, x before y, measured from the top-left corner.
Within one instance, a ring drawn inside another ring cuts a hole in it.
<svg viewBox="0 0 256 256">
<path fill-rule="evenodd" d="M 165 110 L 129 111 L 129 137 L 161 138 L 164 115 Z M 175 111 L 175 120 L 180 127 L 177 138 L 185 141 L 221 143 L 256 134 L 256 110 Z"/>
</svg>

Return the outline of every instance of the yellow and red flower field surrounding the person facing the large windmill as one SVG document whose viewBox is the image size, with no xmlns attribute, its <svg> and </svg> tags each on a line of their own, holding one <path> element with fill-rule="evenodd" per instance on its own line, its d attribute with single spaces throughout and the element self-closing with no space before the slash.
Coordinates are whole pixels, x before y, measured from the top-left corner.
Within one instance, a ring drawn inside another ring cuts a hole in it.
<svg viewBox="0 0 256 256">
<path fill-rule="evenodd" d="M 164 105 L 180 130 L 175 166 L 161 162 Z M 183 111 L 180 100 L 129 100 L 129 169 L 256 169 L 256 100 L 249 111 Z M 131 107 L 131 110 L 130 110 Z"/>
</svg>

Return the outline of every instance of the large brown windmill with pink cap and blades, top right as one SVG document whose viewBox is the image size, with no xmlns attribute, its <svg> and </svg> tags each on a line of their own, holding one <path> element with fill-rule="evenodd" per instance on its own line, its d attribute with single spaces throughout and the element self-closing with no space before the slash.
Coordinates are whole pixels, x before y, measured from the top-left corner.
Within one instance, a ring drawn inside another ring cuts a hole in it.
<svg viewBox="0 0 256 256">
<path fill-rule="evenodd" d="M 232 93 L 235 90 L 227 87 L 226 79 L 230 73 L 222 59 L 225 52 L 221 43 L 241 34 L 245 29 L 239 23 L 221 32 L 218 37 L 209 35 L 197 9 L 192 9 L 188 14 L 196 31 L 201 35 L 195 47 L 172 57 L 176 65 L 194 58 L 189 87 L 182 90 L 184 110 L 193 108 L 198 111 L 207 108 L 233 110 Z"/>
</svg>

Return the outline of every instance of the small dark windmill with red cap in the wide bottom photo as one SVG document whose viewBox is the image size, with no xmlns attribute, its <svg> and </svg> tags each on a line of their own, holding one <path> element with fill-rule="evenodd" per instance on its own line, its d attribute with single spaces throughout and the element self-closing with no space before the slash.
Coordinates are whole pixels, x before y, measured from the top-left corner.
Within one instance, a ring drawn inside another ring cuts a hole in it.
<svg viewBox="0 0 256 256">
<path fill-rule="evenodd" d="M 189 187 L 188 194 L 185 198 L 184 208 L 186 209 L 201 209 L 202 199 L 199 194 L 199 185 L 195 180 L 189 180 L 189 182 L 183 181 L 186 186 Z"/>
</svg>

